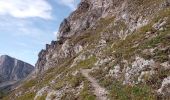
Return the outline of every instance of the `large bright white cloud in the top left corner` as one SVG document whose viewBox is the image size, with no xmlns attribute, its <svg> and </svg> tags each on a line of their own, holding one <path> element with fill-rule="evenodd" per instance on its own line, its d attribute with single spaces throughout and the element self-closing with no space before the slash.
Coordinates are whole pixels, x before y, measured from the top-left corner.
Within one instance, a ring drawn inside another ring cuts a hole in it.
<svg viewBox="0 0 170 100">
<path fill-rule="evenodd" d="M 0 15 L 16 18 L 51 18 L 52 7 L 46 0 L 0 0 Z"/>
</svg>

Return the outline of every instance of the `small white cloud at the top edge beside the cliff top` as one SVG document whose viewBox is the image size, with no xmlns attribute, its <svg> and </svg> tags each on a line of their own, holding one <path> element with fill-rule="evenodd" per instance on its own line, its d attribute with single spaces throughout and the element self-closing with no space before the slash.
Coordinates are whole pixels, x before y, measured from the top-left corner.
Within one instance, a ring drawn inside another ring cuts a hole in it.
<svg viewBox="0 0 170 100">
<path fill-rule="evenodd" d="M 57 3 L 68 6 L 72 10 L 76 9 L 76 0 L 57 0 Z"/>
</svg>

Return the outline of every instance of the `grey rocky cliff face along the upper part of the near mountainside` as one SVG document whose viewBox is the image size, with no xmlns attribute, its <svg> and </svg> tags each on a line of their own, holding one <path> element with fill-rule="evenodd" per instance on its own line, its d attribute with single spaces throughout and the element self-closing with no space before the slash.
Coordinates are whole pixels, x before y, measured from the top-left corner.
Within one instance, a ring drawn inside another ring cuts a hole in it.
<svg viewBox="0 0 170 100">
<path fill-rule="evenodd" d="M 109 38 L 124 39 L 128 34 L 147 25 L 156 12 L 169 6 L 168 0 L 81 0 L 76 11 L 64 19 L 59 28 L 58 41 L 46 45 L 46 49 L 39 53 L 36 72 L 43 72 L 50 67 L 61 64 L 66 58 L 73 57 L 83 50 L 83 43 L 70 42 L 72 37 L 86 34 L 89 29 L 96 30 L 97 23 L 102 18 L 114 17 L 115 27 L 112 32 L 102 33 L 106 41 Z M 145 4 L 147 3 L 147 4 Z M 112 28 L 111 25 L 106 28 Z M 95 34 L 95 33 L 91 33 Z"/>
</svg>

